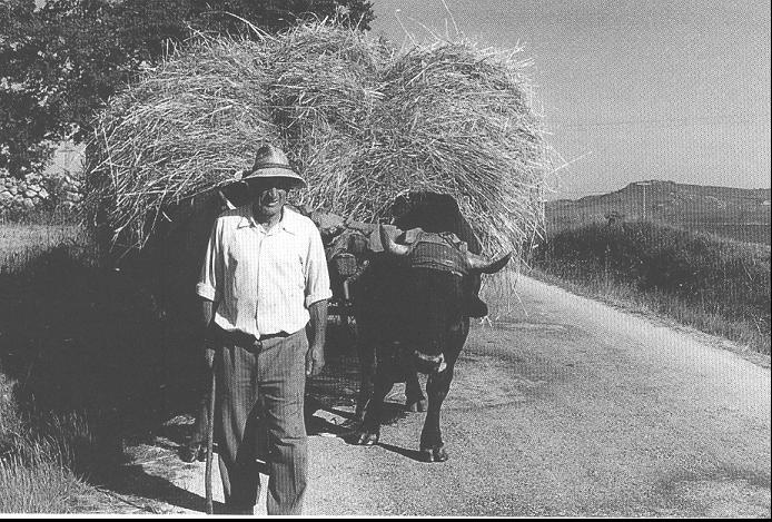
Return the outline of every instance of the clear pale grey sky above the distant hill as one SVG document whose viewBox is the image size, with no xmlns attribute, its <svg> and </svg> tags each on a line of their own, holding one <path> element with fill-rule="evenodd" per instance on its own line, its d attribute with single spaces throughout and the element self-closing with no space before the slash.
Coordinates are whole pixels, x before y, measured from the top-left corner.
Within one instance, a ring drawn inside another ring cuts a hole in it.
<svg viewBox="0 0 772 522">
<path fill-rule="evenodd" d="M 398 46 L 455 21 L 486 47 L 523 47 L 565 162 L 551 199 L 649 179 L 770 188 L 769 0 L 373 3 L 372 33 Z"/>
</svg>

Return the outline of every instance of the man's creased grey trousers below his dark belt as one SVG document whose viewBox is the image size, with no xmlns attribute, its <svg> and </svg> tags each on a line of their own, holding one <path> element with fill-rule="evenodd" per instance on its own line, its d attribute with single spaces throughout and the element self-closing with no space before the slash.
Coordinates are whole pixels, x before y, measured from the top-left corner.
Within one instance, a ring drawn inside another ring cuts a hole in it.
<svg viewBox="0 0 772 522">
<path fill-rule="evenodd" d="M 216 336 L 219 469 L 226 509 L 251 513 L 268 474 L 268 514 L 298 515 L 307 477 L 304 420 L 308 339 Z"/>
</svg>

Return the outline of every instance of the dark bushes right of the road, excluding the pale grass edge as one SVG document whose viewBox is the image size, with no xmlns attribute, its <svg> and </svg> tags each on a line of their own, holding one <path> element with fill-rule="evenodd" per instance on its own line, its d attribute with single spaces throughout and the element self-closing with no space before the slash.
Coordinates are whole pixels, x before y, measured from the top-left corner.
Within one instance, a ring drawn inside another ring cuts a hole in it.
<svg viewBox="0 0 772 522">
<path fill-rule="evenodd" d="M 770 334 L 770 247 L 637 221 L 586 225 L 547 238 L 534 266 L 572 282 L 632 285 L 645 295 Z"/>
</svg>

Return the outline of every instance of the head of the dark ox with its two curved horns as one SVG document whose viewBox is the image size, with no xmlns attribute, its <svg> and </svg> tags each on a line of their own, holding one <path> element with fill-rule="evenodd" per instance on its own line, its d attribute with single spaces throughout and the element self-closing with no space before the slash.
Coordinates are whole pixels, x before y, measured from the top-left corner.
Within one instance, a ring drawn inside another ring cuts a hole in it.
<svg viewBox="0 0 772 522">
<path fill-rule="evenodd" d="M 512 253 L 491 262 L 482 256 L 454 249 L 447 257 L 454 258 L 452 269 L 433 268 L 416 263 L 415 249 L 395 243 L 382 226 L 380 243 L 389 256 L 405 259 L 409 268 L 402 282 L 405 317 L 404 342 L 414 351 L 416 368 L 423 373 L 442 372 L 448 353 L 457 356 L 466 338 L 464 305 L 468 298 L 465 278 L 478 274 L 494 274 L 509 262 Z M 455 358 L 455 356 L 453 358 Z"/>
</svg>

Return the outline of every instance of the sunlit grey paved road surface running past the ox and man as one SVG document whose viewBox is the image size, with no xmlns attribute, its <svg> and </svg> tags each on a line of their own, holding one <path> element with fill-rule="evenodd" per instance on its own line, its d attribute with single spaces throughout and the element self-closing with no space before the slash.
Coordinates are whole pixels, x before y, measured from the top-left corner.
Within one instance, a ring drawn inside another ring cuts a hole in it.
<svg viewBox="0 0 772 522">
<path fill-rule="evenodd" d="M 770 516 L 769 357 L 526 277 L 517 292 L 457 366 L 451 460 L 414 459 L 423 414 L 376 447 L 313 436 L 307 514 Z M 174 482 L 202 494 L 187 470 Z"/>
</svg>

